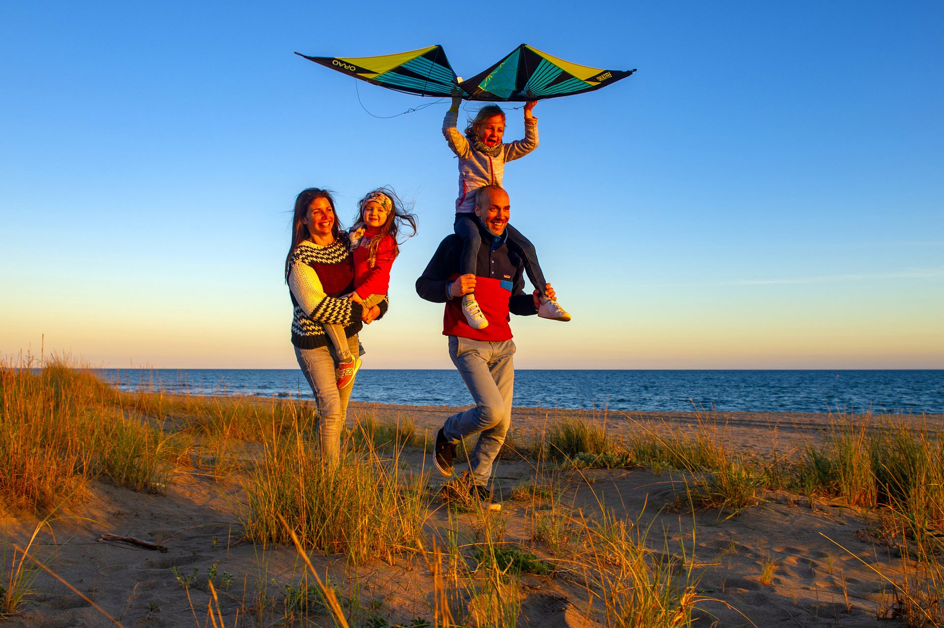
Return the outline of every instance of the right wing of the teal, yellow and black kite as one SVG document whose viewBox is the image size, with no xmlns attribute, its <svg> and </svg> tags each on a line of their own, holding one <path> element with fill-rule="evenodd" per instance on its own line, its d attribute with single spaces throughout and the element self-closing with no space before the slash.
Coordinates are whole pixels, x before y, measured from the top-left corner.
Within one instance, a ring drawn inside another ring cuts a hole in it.
<svg viewBox="0 0 944 628">
<path fill-rule="evenodd" d="M 603 70 L 551 57 L 522 43 L 480 75 L 460 83 L 466 100 L 526 101 L 612 85 L 635 70 Z"/>
</svg>

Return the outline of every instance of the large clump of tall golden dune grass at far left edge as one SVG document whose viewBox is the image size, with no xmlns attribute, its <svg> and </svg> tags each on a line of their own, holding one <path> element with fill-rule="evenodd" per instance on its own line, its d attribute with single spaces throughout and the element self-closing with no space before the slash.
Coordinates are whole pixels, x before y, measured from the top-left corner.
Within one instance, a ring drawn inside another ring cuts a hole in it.
<svg viewBox="0 0 944 628">
<path fill-rule="evenodd" d="M 169 434 L 128 416 L 120 395 L 91 373 L 64 360 L 38 372 L 0 364 L 3 507 L 48 511 L 98 477 L 160 493 L 176 453 Z"/>
</svg>

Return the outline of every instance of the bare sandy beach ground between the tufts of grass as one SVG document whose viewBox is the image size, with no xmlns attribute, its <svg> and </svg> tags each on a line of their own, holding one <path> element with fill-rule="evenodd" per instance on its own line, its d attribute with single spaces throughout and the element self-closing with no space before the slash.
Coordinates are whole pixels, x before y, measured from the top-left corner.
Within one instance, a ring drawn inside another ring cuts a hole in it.
<svg viewBox="0 0 944 628">
<path fill-rule="evenodd" d="M 352 403 L 348 422 L 410 420 L 416 433 L 431 434 L 455 410 Z M 562 417 L 605 424 L 616 440 L 700 426 L 701 433 L 714 434 L 732 450 L 767 460 L 816 442 L 836 419 L 789 413 L 708 416 L 515 408 L 510 443 L 524 443 Z M 941 416 L 904 419 L 921 421 L 934 431 L 942 427 Z M 31 552 L 124 626 L 204 626 L 219 621 L 226 626 L 335 625 L 328 614 L 310 617 L 306 624 L 287 610 L 304 563 L 291 546 L 263 547 L 244 538 L 245 469 L 258 457 L 260 444 L 234 442 L 228 451 L 239 464 L 225 475 L 194 464 L 198 458 L 191 457 L 190 463 L 181 458 L 163 495 L 93 482 L 86 500 L 71 503 L 40 526 Z M 429 472 L 430 458 L 422 449 L 407 446 L 397 464 Z M 916 566 L 875 534 L 877 520 L 868 511 L 784 490 L 763 492 L 756 506 L 736 515 L 693 509 L 684 505 L 691 475 L 645 467 L 539 468 L 531 457 L 503 452 L 495 476 L 500 513 L 449 508 L 438 495 L 445 479 L 432 473 L 425 480 L 430 502 L 424 529 L 440 546 L 449 534 L 461 544 L 474 544 L 481 537 L 482 519 L 494 518 L 500 522 L 501 543 L 532 552 L 552 566 L 547 574 L 520 575 L 514 593 L 520 603 L 518 626 L 606 625 L 598 596 L 588 594 L 593 574 L 588 575 L 586 565 L 577 566 L 566 552 L 536 540 L 535 520 L 557 507 L 582 518 L 609 517 L 649 531 L 649 552 L 666 557 L 672 569 L 693 573 L 695 625 L 889 625 L 880 618 L 895 616 L 893 583 Z M 555 498 L 541 499 L 536 491 L 522 498 L 521 491 L 515 491 L 537 485 L 538 476 L 540 482 L 557 487 Z M 25 547 L 38 523 L 36 516 L 7 513 L 2 527 L 5 547 Z M 102 540 L 103 534 L 142 539 L 161 550 Z M 399 552 L 389 561 L 374 559 L 358 567 L 347 566 L 342 555 L 312 552 L 311 560 L 336 586 L 351 625 L 434 625 L 433 574 L 417 553 Z M 5 567 L 8 564 L 9 558 Z M 190 574 L 195 576 L 183 586 Z M 211 576 L 218 593 L 215 604 L 206 585 Z M 30 588 L 32 595 L 7 625 L 114 625 L 44 572 Z M 469 617 L 475 616 L 466 621 Z"/>
</svg>

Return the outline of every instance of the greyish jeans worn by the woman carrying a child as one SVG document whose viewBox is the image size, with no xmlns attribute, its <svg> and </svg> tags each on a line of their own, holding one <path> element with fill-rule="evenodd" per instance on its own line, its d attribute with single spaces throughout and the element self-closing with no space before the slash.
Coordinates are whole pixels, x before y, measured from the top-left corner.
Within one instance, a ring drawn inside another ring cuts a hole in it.
<svg viewBox="0 0 944 628">
<path fill-rule="evenodd" d="M 356 333 L 347 338 L 347 348 L 356 355 Z M 344 390 L 338 390 L 338 376 L 334 370 L 335 358 L 327 347 L 295 347 L 295 358 L 308 384 L 312 386 L 314 401 L 318 407 L 318 443 L 321 446 L 322 460 L 334 466 L 341 453 L 341 429 L 345 426 L 347 400 L 350 399 L 354 386 L 352 384 Z"/>
</svg>

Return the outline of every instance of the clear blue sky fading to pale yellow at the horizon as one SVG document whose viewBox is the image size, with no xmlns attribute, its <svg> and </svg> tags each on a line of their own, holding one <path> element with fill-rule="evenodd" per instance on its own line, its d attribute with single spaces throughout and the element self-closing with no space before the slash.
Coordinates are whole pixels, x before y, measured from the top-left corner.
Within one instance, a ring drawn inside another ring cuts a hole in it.
<svg viewBox="0 0 944 628">
<path fill-rule="evenodd" d="M 0 356 L 293 368 L 295 195 L 350 225 L 391 185 L 419 233 L 364 367 L 451 367 L 413 288 L 452 230 L 447 102 L 293 53 L 439 43 L 468 77 L 527 42 L 638 71 L 538 103 L 506 168 L 573 315 L 514 317 L 516 366 L 942 368 L 942 32 L 937 1 L 2 3 Z"/>
</svg>

